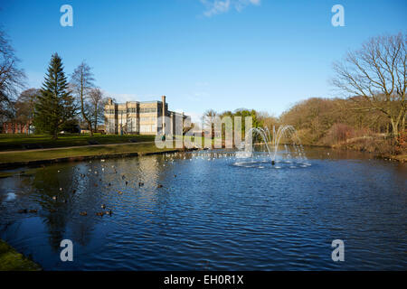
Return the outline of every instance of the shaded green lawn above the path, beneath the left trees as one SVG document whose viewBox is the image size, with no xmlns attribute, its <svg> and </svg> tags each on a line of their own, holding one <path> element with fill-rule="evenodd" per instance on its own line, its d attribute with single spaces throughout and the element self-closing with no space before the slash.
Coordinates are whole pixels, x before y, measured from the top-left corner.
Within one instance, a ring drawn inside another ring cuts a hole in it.
<svg viewBox="0 0 407 289">
<path fill-rule="evenodd" d="M 57 140 L 52 140 L 50 135 L 5 135 L 0 134 L 0 151 L 24 150 L 25 145 L 36 144 L 42 148 L 64 146 L 89 145 L 88 141 L 99 144 L 124 144 L 135 142 L 152 142 L 154 135 L 59 135 Z"/>
</svg>

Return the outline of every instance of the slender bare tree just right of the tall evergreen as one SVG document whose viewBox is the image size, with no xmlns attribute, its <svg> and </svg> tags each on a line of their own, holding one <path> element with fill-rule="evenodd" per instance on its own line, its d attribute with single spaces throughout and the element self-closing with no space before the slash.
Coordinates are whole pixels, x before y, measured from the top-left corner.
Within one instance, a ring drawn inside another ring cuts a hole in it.
<svg viewBox="0 0 407 289">
<path fill-rule="evenodd" d="M 90 121 L 92 112 L 87 109 L 87 107 L 89 107 L 87 98 L 89 98 L 90 90 L 94 88 L 94 80 L 90 66 L 85 61 L 82 61 L 71 75 L 71 86 L 79 98 L 80 114 L 83 120 L 88 124 L 90 135 L 93 135 L 93 127 Z"/>
</svg>

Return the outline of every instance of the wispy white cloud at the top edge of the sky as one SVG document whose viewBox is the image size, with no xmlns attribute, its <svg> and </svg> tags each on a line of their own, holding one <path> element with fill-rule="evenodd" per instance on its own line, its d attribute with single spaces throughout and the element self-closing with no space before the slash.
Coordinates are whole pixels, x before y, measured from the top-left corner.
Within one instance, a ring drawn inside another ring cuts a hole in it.
<svg viewBox="0 0 407 289">
<path fill-rule="evenodd" d="M 260 5 L 260 0 L 200 0 L 205 6 L 204 15 L 211 17 L 215 14 L 228 12 L 231 8 L 241 12 L 248 5 Z"/>
</svg>

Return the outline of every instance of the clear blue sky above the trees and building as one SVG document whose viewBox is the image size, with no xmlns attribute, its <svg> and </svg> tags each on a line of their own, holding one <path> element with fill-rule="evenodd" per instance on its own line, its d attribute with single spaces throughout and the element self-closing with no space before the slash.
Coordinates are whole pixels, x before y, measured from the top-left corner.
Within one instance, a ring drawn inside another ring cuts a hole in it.
<svg viewBox="0 0 407 289">
<path fill-rule="evenodd" d="M 62 27 L 60 7 L 73 8 Z M 333 5 L 345 27 L 331 24 Z M 0 0 L 29 86 L 39 88 L 57 51 L 70 74 L 82 60 L 118 100 L 166 95 L 199 116 L 254 108 L 279 116 L 301 99 L 335 96 L 332 62 L 369 37 L 406 32 L 407 1 Z"/>
</svg>

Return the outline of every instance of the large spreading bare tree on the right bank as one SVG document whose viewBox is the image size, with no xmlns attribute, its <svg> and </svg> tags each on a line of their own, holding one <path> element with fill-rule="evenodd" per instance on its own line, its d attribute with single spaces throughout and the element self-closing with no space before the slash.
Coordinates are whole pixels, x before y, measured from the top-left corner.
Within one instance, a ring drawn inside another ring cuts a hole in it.
<svg viewBox="0 0 407 289">
<path fill-rule="evenodd" d="M 406 117 L 406 35 L 379 36 L 334 63 L 333 84 L 349 96 L 364 99 L 358 109 L 378 110 L 389 118 L 393 136 L 404 129 Z M 368 104 L 366 106 L 366 104 Z"/>
</svg>

